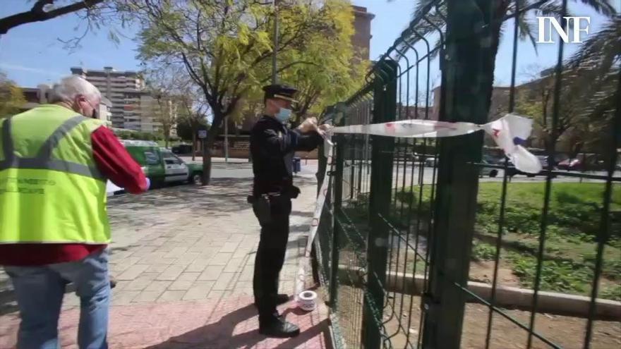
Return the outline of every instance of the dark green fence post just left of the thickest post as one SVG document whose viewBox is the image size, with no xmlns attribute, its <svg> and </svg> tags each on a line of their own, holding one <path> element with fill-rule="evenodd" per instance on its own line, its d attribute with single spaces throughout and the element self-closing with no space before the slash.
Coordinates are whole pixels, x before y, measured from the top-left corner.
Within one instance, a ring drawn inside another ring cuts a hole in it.
<svg viewBox="0 0 621 349">
<path fill-rule="evenodd" d="M 380 61 L 375 67 L 373 123 L 394 121 L 397 111 L 397 63 Z M 388 257 L 388 227 L 382 220 L 390 214 L 394 138 L 371 137 L 370 232 L 367 238 L 367 283 L 363 304 L 363 348 L 380 348 L 382 308 Z"/>
</svg>

